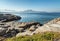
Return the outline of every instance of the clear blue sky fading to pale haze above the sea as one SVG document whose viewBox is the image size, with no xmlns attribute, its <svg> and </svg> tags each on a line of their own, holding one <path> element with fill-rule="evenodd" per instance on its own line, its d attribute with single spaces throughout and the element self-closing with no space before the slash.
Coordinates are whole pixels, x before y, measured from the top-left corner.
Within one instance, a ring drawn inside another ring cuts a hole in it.
<svg viewBox="0 0 60 41">
<path fill-rule="evenodd" d="M 0 10 L 60 12 L 60 0 L 0 0 Z"/>
</svg>

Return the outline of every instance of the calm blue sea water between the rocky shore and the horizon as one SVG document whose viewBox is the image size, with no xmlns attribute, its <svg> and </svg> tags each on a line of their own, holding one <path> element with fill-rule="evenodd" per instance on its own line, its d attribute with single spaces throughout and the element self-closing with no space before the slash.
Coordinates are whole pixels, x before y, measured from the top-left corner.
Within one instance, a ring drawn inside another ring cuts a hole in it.
<svg viewBox="0 0 60 41">
<path fill-rule="evenodd" d="M 15 14 L 15 15 L 18 15 L 18 16 L 21 16 L 22 19 L 19 20 L 19 22 L 32 22 L 32 21 L 35 21 L 35 22 L 40 22 L 41 24 L 45 24 L 47 23 L 48 21 L 54 19 L 54 18 L 57 18 L 57 17 L 60 17 L 60 14 Z"/>
</svg>

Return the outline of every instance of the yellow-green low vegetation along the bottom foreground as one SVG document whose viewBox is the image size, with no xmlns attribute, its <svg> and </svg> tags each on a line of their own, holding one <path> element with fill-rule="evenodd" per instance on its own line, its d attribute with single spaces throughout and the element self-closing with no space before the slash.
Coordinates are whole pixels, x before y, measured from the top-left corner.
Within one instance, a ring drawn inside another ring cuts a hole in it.
<svg viewBox="0 0 60 41">
<path fill-rule="evenodd" d="M 54 41 L 60 39 L 60 33 L 58 32 L 45 32 L 32 36 L 20 36 L 7 38 L 6 41 Z"/>
</svg>

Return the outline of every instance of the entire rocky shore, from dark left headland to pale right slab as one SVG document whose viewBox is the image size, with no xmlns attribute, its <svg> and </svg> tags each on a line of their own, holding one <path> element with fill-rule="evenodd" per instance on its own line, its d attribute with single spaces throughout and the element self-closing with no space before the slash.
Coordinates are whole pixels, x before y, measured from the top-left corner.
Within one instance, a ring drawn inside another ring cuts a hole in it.
<svg viewBox="0 0 60 41">
<path fill-rule="evenodd" d="M 54 19 L 44 25 L 39 22 L 17 22 L 21 19 L 10 14 L 4 14 L 0 17 L 0 37 L 19 37 L 25 35 L 34 35 L 37 33 L 52 31 L 60 33 L 60 18 Z"/>
</svg>

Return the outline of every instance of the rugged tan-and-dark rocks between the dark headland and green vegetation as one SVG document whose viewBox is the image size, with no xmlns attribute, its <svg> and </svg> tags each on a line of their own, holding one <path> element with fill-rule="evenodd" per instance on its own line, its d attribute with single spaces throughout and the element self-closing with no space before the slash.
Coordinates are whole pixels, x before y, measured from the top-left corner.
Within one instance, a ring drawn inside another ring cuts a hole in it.
<svg viewBox="0 0 60 41">
<path fill-rule="evenodd" d="M 27 31 L 33 32 L 38 28 L 37 26 L 40 26 L 40 23 L 38 22 L 1 22 L 0 23 L 0 36 L 3 37 L 13 37 L 15 35 L 19 35 L 18 33 L 25 33 L 27 34 Z M 21 35 L 20 34 L 20 35 Z M 29 35 L 29 34 L 27 34 Z"/>
</svg>

